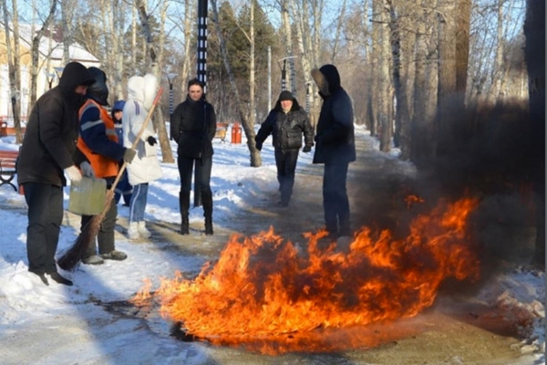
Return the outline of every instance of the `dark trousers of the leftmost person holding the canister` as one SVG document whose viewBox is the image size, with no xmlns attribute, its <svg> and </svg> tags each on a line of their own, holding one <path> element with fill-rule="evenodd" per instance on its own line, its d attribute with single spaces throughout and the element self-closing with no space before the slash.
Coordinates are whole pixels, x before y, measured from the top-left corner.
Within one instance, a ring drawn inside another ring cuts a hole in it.
<svg viewBox="0 0 547 365">
<path fill-rule="evenodd" d="M 25 183 L 24 189 L 28 205 L 28 271 L 38 275 L 55 273 L 55 253 L 63 222 L 63 189 L 47 183 Z"/>
</svg>

